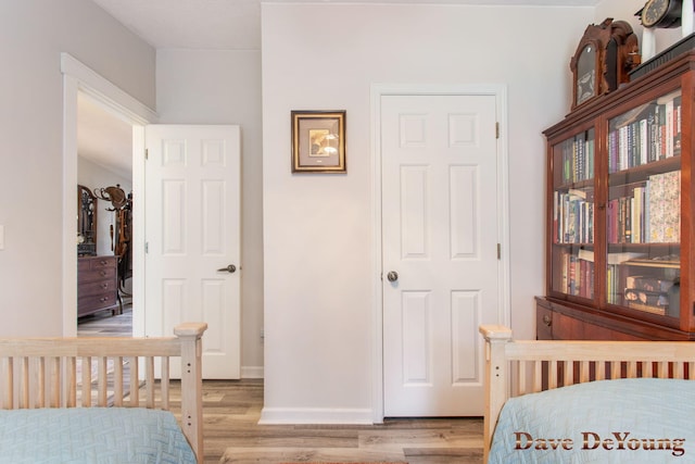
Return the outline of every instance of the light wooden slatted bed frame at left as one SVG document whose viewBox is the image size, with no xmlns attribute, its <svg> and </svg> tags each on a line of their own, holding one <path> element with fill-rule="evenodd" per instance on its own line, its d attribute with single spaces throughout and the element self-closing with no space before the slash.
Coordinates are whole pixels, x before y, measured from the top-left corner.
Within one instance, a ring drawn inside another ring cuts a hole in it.
<svg viewBox="0 0 695 464">
<path fill-rule="evenodd" d="M 176 337 L 0 339 L 0 378 L 3 379 L 0 409 L 113 405 L 168 411 L 169 358 L 180 356 L 180 425 L 197 460 L 203 462 L 201 337 L 206 329 L 205 323 L 185 323 L 174 328 Z M 78 360 L 80 379 L 77 378 Z M 128 361 L 129 369 L 129 392 L 125 399 L 124 360 Z M 92 404 L 94 362 L 97 401 Z M 155 362 L 161 371 L 159 377 L 155 377 Z M 113 366 L 112 404 L 108 400 L 110 363 Z M 144 375 L 140 375 L 139 366 L 144 366 Z"/>
</svg>

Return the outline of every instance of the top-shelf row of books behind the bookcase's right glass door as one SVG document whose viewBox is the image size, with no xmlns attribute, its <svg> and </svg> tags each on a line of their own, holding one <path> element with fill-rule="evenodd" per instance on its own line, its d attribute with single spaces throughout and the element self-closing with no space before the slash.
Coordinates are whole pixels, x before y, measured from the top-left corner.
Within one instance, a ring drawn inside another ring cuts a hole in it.
<svg viewBox="0 0 695 464">
<path fill-rule="evenodd" d="M 669 93 L 610 121 L 608 170 L 615 173 L 681 154 L 681 93 Z"/>
</svg>

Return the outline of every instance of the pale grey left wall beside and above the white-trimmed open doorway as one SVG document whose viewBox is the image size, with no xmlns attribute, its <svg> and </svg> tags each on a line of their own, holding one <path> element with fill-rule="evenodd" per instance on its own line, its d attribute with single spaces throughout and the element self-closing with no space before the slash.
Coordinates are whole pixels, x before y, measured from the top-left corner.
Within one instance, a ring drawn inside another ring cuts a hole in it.
<svg viewBox="0 0 695 464">
<path fill-rule="evenodd" d="M 154 50 L 89 0 L 0 0 L 0 335 L 61 335 L 60 53 L 154 106 Z"/>
</svg>

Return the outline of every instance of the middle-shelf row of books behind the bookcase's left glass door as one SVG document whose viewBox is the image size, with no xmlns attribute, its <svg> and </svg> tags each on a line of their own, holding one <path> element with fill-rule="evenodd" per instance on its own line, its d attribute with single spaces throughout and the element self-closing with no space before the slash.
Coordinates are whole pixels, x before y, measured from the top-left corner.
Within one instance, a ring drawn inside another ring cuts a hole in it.
<svg viewBox="0 0 695 464">
<path fill-rule="evenodd" d="M 586 190 L 555 191 L 553 239 L 555 243 L 593 243 L 594 199 Z"/>
</svg>

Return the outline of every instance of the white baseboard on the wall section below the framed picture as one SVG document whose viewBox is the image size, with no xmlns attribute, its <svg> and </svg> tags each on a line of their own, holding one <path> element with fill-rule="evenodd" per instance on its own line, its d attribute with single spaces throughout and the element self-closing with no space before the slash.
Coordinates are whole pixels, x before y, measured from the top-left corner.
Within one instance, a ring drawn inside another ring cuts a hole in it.
<svg viewBox="0 0 695 464">
<path fill-rule="evenodd" d="M 258 424 L 354 424 L 371 425 L 369 409 L 264 407 Z"/>
</svg>

